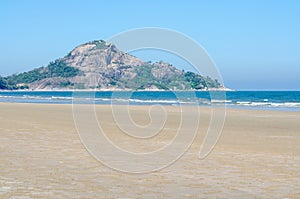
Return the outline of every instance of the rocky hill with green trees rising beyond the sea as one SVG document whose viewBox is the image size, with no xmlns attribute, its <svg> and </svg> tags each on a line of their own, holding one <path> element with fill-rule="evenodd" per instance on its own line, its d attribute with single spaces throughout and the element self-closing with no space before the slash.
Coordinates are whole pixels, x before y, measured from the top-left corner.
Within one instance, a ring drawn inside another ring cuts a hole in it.
<svg viewBox="0 0 300 199">
<path fill-rule="evenodd" d="M 164 89 L 222 88 L 209 77 L 149 63 L 97 40 L 80 45 L 63 58 L 29 72 L 0 78 L 0 89 Z"/>
</svg>

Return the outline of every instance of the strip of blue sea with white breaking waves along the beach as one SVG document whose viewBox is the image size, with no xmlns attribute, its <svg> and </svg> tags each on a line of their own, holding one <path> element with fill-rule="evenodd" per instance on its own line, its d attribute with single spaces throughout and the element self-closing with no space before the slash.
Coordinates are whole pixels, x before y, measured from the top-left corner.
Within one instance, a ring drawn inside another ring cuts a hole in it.
<svg viewBox="0 0 300 199">
<path fill-rule="evenodd" d="M 74 95 L 75 93 L 75 95 Z M 226 99 L 211 99 L 208 91 L 22 91 L 0 92 L 0 102 L 71 104 L 74 96 L 82 103 L 130 105 L 203 105 L 226 103 L 227 107 L 263 110 L 300 111 L 300 91 L 230 91 Z M 213 92 L 213 95 L 223 92 Z"/>
</svg>

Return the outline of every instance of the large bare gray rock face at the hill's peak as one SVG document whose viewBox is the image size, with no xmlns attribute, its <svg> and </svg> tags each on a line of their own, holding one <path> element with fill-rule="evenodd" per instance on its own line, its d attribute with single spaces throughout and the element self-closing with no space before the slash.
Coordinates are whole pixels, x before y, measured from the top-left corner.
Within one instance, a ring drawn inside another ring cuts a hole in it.
<svg viewBox="0 0 300 199">
<path fill-rule="evenodd" d="M 78 68 L 82 73 L 71 78 L 71 82 L 83 84 L 83 88 L 110 89 L 112 80 L 122 77 L 132 79 L 136 75 L 132 68 L 126 66 L 141 66 L 145 62 L 132 55 L 124 53 L 115 45 L 105 41 L 94 41 L 76 47 L 62 59 L 68 66 Z"/>
</svg>

